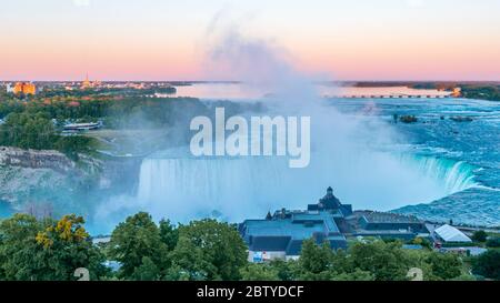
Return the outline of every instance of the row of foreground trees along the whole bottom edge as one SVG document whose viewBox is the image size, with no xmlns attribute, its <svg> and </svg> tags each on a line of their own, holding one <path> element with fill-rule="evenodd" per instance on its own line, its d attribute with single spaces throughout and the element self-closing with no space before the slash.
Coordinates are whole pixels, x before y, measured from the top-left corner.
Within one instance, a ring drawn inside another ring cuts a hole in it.
<svg viewBox="0 0 500 303">
<path fill-rule="evenodd" d="M 129 216 L 109 243 L 94 245 L 76 215 L 59 221 L 16 214 L 0 223 L 0 280 L 76 280 L 88 269 L 92 280 L 112 281 L 393 281 L 418 267 L 424 280 L 500 279 L 500 252 L 462 260 L 430 250 L 410 251 L 400 242 L 367 240 L 348 251 L 304 241 L 297 261 L 249 263 L 247 246 L 232 224 L 214 220 L 173 225 L 148 213 Z M 118 269 L 106 266 L 116 261 Z"/>
</svg>

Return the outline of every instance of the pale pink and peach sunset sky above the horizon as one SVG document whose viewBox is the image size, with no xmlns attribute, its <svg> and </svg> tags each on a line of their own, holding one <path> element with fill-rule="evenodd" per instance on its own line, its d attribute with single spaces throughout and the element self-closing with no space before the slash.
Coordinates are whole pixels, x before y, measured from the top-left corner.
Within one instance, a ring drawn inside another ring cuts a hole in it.
<svg viewBox="0 0 500 303">
<path fill-rule="evenodd" d="M 499 81 L 499 16 L 498 0 L 0 0 L 0 80 L 214 80 L 222 18 L 328 80 Z"/>
</svg>

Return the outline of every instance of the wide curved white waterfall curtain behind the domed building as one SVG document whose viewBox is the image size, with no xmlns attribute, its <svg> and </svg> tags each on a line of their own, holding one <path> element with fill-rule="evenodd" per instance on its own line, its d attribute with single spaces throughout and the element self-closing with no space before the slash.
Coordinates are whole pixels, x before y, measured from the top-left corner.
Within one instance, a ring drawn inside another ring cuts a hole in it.
<svg viewBox="0 0 500 303">
<path fill-rule="evenodd" d="M 390 210 L 431 202 L 474 186 L 473 168 L 447 159 L 378 152 L 314 154 L 307 169 L 281 158 L 154 155 L 143 160 L 137 200 L 158 218 L 187 221 L 222 213 L 261 218 L 303 209 L 329 185 L 356 209 Z"/>
</svg>

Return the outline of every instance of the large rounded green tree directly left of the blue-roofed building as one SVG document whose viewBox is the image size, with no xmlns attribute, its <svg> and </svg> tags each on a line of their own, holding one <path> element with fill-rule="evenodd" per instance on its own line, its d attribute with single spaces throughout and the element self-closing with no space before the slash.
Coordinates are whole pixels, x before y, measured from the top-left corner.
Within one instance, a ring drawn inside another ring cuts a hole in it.
<svg viewBox="0 0 500 303">
<path fill-rule="evenodd" d="M 216 220 L 179 228 L 172 265 L 189 280 L 238 280 L 247 264 L 247 246 L 233 225 Z"/>
</svg>

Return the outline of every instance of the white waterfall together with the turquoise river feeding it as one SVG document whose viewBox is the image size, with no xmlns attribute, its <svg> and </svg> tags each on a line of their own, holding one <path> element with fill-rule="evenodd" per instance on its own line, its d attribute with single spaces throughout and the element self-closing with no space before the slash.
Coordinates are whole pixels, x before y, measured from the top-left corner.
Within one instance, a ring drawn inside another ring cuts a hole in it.
<svg viewBox="0 0 500 303">
<path fill-rule="evenodd" d="M 463 99 L 330 99 L 328 103 L 346 115 L 384 120 L 403 140 L 370 152 L 313 152 L 311 165 L 300 171 L 276 158 L 158 153 L 142 163 L 141 208 L 181 220 L 213 211 L 241 220 L 281 206 L 303 208 L 332 185 L 356 209 L 424 203 L 398 211 L 472 224 L 500 223 L 500 103 Z M 394 123 L 393 114 L 414 114 L 419 122 Z M 472 121 L 456 122 L 453 117 Z"/>
</svg>

